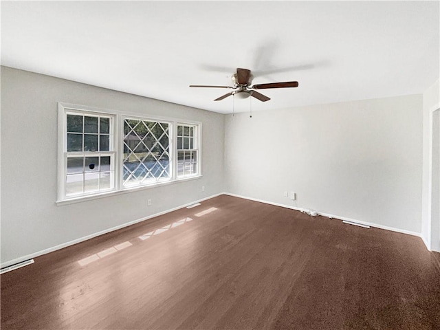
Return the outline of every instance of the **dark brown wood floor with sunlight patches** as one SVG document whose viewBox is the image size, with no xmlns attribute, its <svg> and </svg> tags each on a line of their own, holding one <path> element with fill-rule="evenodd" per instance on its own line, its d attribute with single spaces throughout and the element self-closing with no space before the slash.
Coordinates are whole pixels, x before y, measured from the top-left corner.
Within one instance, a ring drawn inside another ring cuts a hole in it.
<svg viewBox="0 0 440 330">
<path fill-rule="evenodd" d="M 440 329 L 440 256 L 220 196 L 3 274 L 1 329 Z"/>
</svg>

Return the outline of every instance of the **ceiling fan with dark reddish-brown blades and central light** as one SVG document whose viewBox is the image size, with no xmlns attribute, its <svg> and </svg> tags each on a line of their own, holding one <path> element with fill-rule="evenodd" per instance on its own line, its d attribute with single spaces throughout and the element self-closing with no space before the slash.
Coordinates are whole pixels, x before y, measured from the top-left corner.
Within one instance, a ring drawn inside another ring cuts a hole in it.
<svg viewBox="0 0 440 330">
<path fill-rule="evenodd" d="M 285 83 L 268 83 L 268 84 L 260 84 L 260 85 L 252 85 L 252 73 L 248 69 L 237 68 L 236 73 L 232 75 L 232 83 L 234 86 L 209 86 L 209 85 L 190 85 L 190 87 L 210 87 L 210 88 L 232 88 L 235 89 L 228 94 L 220 96 L 216 98 L 214 101 L 223 100 L 223 98 L 227 98 L 231 95 L 241 96 L 242 98 L 248 98 L 249 96 L 253 96 L 262 102 L 266 102 L 270 100 L 267 96 L 259 93 L 258 91 L 254 91 L 254 89 L 267 89 L 267 88 L 285 88 L 285 87 L 298 87 L 297 81 L 287 81 Z"/>
</svg>

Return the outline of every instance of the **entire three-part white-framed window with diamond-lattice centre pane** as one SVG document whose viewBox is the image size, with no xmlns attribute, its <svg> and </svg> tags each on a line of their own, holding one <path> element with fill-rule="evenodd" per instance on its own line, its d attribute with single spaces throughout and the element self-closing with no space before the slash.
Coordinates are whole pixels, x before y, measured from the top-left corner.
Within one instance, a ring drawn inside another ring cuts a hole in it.
<svg viewBox="0 0 440 330">
<path fill-rule="evenodd" d="M 201 175 L 201 123 L 60 103 L 58 126 L 58 201 Z"/>
</svg>

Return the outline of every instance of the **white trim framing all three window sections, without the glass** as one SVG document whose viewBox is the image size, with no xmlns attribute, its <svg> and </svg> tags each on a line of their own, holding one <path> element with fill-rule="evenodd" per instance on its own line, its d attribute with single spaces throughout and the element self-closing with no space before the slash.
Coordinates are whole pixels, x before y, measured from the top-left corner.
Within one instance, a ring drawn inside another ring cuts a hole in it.
<svg viewBox="0 0 440 330">
<path fill-rule="evenodd" d="M 78 195 L 73 197 L 65 196 L 65 145 L 67 143 L 67 134 L 65 132 L 66 113 L 70 111 L 80 111 L 91 115 L 109 115 L 113 116 L 113 146 L 115 159 L 115 183 L 112 190 L 101 192 L 91 192 L 89 195 Z M 137 120 L 157 120 L 168 122 L 171 125 L 170 133 L 170 157 L 173 160 L 171 166 L 171 179 L 162 182 L 155 182 L 152 184 L 144 184 L 139 186 L 123 187 L 122 186 L 122 154 L 124 151 L 123 136 L 124 136 L 124 118 L 133 118 Z M 199 159 L 197 163 L 197 175 L 190 175 L 188 177 L 177 177 L 177 124 L 191 124 L 198 126 L 197 132 L 197 147 L 199 149 Z M 190 181 L 199 179 L 201 174 L 201 137 L 202 137 L 202 123 L 194 120 L 186 120 L 181 118 L 166 118 L 156 115 L 140 115 L 140 113 L 132 113 L 129 111 L 118 111 L 113 109 L 102 109 L 98 107 L 89 107 L 85 105 L 71 104 L 66 102 L 58 102 L 58 163 L 57 163 L 57 205 L 65 205 L 70 203 L 77 203 L 80 201 L 88 201 L 91 199 L 98 199 L 102 197 L 110 197 L 114 195 L 121 195 L 127 192 L 135 192 L 144 189 L 156 188 L 157 186 L 166 186 L 168 184 L 176 184 L 181 181 Z"/>
</svg>

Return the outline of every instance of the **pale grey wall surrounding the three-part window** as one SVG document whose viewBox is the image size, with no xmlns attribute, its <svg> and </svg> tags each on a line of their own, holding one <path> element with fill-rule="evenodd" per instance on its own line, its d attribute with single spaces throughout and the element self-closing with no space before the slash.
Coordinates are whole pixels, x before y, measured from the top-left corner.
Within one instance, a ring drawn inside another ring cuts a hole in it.
<svg viewBox="0 0 440 330">
<path fill-rule="evenodd" d="M 203 177 L 56 206 L 57 102 L 202 122 Z M 8 67 L 1 67 L 1 112 L 2 267 L 224 190 L 224 116 L 218 113 Z"/>
</svg>

